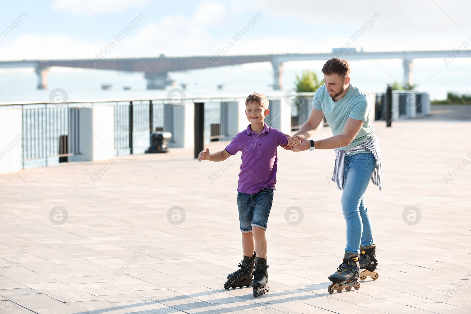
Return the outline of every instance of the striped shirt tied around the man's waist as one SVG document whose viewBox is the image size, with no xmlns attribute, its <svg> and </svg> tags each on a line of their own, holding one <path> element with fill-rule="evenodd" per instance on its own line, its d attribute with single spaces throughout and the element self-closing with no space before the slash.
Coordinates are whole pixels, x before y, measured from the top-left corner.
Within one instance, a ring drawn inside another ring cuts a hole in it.
<svg viewBox="0 0 471 314">
<path fill-rule="evenodd" d="M 370 181 L 373 181 L 374 185 L 379 186 L 380 191 L 382 190 L 382 166 L 381 166 L 381 152 L 378 138 L 373 135 L 368 138 L 365 142 L 358 144 L 355 147 L 342 151 L 341 149 L 335 150 L 335 166 L 333 168 L 332 181 L 337 184 L 338 189 L 345 187 L 345 154 L 356 153 L 356 152 L 371 152 L 373 153 L 374 160 L 376 161 L 373 174 Z"/>
</svg>

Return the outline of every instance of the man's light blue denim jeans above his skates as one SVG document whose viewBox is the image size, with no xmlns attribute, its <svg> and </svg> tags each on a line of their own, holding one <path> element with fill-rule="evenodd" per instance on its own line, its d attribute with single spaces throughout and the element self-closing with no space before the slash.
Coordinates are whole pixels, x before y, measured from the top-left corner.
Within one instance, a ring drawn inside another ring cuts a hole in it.
<svg viewBox="0 0 471 314">
<path fill-rule="evenodd" d="M 360 244 L 373 244 L 373 229 L 365 206 L 365 191 L 375 167 L 372 153 L 345 157 L 345 187 L 342 192 L 342 214 L 347 224 L 345 251 L 359 254 Z"/>
</svg>

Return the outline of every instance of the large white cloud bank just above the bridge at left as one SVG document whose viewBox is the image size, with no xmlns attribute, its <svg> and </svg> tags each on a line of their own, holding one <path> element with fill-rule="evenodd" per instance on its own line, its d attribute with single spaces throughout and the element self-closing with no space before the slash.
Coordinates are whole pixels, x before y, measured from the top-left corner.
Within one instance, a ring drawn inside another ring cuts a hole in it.
<svg viewBox="0 0 471 314">
<path fill-rule="evenodd" d="M 95 54 L 100 52 L 100 48 L 109 45 L 110 41 L 114 41 L 116 47 L 106 55 L 107 58 L 159 56 L 161 53 L 169 56 L 212 54 L 215 51 L 214 40 L 207 29 L 214 25 L 219 26 L 215 18 L 222 21 L 225 7 L 214 2 L 201 4 L 203 6 L 199 6 L 190 17 L 177 14 L 144 24 L 146 17 L 138 24 L 136 30 L 120 42 L 113 38 L 113 34 L 85 41 L 65 35 L 22 33 L 16 40 L 8 38 L 8 42 L 2 43 L 0 59 L 17 60 L 13 52 L 21 59 L 95 59 Z"/>
</svg>

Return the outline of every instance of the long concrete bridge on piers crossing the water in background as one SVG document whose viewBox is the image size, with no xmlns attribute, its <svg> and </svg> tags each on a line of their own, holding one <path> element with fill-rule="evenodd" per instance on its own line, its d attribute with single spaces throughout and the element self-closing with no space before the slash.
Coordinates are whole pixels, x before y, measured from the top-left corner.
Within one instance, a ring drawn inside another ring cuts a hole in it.
<svg viewBox="0 0 471 314">
<path fill-rule="evenodd" d="M 116 70 L 126 72 L 144 72 L 147 89 L 165 89 L 172 85 L 169 72 L 204 69 L 211 67 L 270 62 L 273 66 L 273 89 L 283 89 L 283 64 L 289 61 L 328 60 L 339 57 L 347 60 L 360 59 L 403 59 L 403 81 L 412 85 L 412 61 L 417 58 L 443 58 L 445 64 L 453 62 L 457 57 L 471 57 L 471 50 L 424 50 L 424 51 L 383 51 L 365 52 L 356 48 L 334 48 L 331 53 L 316 54 L 271 54 L 227 56 L 186 56 L 149 58 L 119 58 L 119 59 L 73 59 L 73 60 L 20 60 L 0 61 L 0 68 L 34 68 L 38 77 L 38 89 L 47 89 L 47 76 L 52 66 Z M 447 61 L 448 60 L 448 61 Z"/>
</svg>

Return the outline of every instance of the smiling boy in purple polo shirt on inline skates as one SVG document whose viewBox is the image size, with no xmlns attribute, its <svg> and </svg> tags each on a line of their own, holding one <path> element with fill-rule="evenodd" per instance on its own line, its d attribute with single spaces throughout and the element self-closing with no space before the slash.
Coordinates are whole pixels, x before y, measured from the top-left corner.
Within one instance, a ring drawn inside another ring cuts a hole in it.
<svg viewBox="0 0 471 314">
<path fill-rule="evenodd" d="M 231 155 L 242 152 L 237 207 L 244 258 L 238 265 L 240 269 L 227 275 L 224 288 L 252 285 L 255 298 L 269 289 L 265 230 L 276 183 L 276 148 L 288 143 L 283 132 L 265 124 L 265 117 L 269 112 L 268 98 L 265 95 L 249 95 L 245 99 L 245 114 L 250 121 L 247 129 L 239 132 L 225 150 L 210 154 L 206 148 L 198 156 L 198 161 L 224 161 Z M 254 267 L 255 271 L 252 273 Z"/>
</svg>

